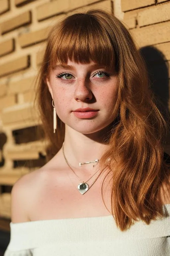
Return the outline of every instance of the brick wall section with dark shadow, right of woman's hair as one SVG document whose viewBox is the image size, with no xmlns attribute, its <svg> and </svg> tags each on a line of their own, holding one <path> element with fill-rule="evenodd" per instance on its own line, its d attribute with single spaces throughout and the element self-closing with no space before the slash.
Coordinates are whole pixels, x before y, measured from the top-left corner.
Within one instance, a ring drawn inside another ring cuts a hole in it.
<svg viewBox="0 0 170 256">
<path fill-rule="evenodd" d="M 169 112 L 170 1 L 122 0 L 121 7 L 123 21 L 147 62 L 151 88 Z M 170 133 L 165 141 L 164 150 L 170 155 Z"/>
</svg>

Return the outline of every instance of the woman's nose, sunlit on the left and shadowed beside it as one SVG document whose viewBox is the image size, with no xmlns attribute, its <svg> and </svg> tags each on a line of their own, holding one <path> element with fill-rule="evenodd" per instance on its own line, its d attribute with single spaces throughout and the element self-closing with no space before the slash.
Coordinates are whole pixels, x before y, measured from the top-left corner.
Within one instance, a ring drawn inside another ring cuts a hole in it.
<svg viewBox="0 0 170 256">
<path fill-rule="evenodd" d="M 90 101 L 93 98 L 92 91 L 85 79 L 79 79 L 77 81 L 74 98 L 76 101 Z"/>
</svg>

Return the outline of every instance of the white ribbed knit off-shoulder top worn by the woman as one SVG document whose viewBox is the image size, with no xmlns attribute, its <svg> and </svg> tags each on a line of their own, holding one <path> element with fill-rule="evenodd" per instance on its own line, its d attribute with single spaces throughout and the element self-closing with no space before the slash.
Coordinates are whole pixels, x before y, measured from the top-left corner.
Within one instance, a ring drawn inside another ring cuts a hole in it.
<svg viewBox="0 0 170 256">
<path fill-rule="evenodd" d="M 125 232 L 112 215 L 11 222 L 4 256 L 170 256 L 170 204 L 163 209 L 168 217 Z"/>
</svg>

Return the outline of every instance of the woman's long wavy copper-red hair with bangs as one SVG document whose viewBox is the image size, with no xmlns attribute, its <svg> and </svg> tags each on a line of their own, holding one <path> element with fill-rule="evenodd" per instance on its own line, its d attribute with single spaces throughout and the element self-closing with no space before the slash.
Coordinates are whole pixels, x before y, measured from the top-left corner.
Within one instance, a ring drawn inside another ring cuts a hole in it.
<svg viewBox="0 0 170 256">
<path fill-rule="evenodd" d="M 53 107 L 46 77 L 56 63 L 67 64 L 68 59 L 108 67 L 114 64 L 118 76 L 116 122 L 110 132 L 110 148 L 100 161 L 102 170 L 110 168 L 113 177 L 111 205 L 117 226 L 125 231 L 135 221 L 149 224 L 165 216 L 160 194 L 162 184 L 169 184 L 170 174 L 163 160 L 166 123 L 155 105 L 144 61 L 130 33 L 105 11 L 67 16 L 49 33 L 37 88 L 48 141 L 47 160 L 62 147 L 65 125 L 57 117 L 57 133 L 53 134 Z"/>
</svg>

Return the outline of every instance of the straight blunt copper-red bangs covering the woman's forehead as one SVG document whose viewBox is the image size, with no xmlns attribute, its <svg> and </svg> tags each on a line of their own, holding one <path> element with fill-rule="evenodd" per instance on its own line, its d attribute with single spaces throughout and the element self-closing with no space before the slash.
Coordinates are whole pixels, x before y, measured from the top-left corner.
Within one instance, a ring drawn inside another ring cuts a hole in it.
<svg viewBox="0 0 170 256">
<path fill-rule="evenodd" d="M 56 64 L 91 61 L 115 67 L 115 51 L 109 37 L 109 31 L 92 14 L 74 14 L 67 17 L 52 31 L 48 67 L 55 69 Z"/>
</svg>

